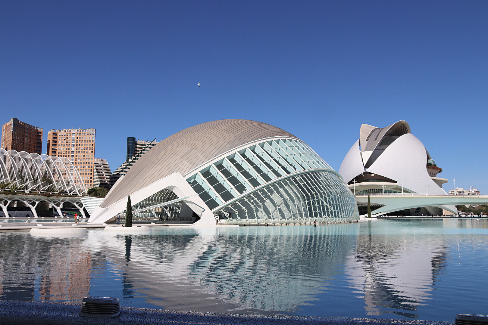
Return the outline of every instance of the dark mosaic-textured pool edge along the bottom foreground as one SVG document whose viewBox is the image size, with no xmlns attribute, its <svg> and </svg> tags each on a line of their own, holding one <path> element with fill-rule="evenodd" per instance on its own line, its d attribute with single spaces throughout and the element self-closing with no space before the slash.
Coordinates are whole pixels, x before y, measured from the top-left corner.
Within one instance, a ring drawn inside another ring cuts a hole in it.
<svg viewBox="0 0 488 325">
<path fill-rule="evenodd" d="M 71 324 L 130 324 L 130 325 L 453 325 L 450 322 L 390 320 L 369 318 L 312 317 L 286 315 L 238 315 L 199 311 L 176 311 L 122 307 L 116 318 L 86 318 L 78 316 L 81 305 L 49 302 L 1 301 L 0 325 L 71 325 Z"/>
</svg>

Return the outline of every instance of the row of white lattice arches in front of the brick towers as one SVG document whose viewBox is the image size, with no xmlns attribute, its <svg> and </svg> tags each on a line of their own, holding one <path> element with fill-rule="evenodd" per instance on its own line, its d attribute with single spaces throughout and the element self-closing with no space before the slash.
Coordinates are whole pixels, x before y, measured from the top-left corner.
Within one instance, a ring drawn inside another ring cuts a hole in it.
<svg viewBox="0 0 488 325">
<path fill-rule="evenodd" d="M 80 173 L 65 157 L 6 151 L 0 148 L 0 184 L 11 183 L 26 192 L 86 192 Z"/>
</svg>

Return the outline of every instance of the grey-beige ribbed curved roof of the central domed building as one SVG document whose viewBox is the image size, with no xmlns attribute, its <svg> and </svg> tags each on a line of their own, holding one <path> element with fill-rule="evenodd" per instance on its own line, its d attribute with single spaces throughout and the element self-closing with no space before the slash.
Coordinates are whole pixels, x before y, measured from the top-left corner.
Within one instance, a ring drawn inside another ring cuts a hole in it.
<svg viewBox="0 0 488 325">
<path fill-rule="evenodd" d="M 145 153 L 107 194 L 101 207 L 174 172 L 185 175 L 234 148 L 271 137 L 298 139 L 275 126 L 243 119 L 211 121 L 184 129 Z"/>
</svg>

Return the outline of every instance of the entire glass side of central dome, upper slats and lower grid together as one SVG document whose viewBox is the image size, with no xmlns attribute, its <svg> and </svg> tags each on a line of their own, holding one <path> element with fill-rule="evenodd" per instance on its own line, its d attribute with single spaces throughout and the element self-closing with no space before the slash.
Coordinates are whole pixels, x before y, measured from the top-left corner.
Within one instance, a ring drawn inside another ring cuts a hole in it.
<svg viewBox="0 0 488 325">
<path fill-rule="evenodd" d="M 248 146 L 186 181 L 210 209 L 219 209 L 214 215 L 226 223 L 359 219 L 356 200 L 346 184 L 300 140 L 276 139 Z"/>
</svg>

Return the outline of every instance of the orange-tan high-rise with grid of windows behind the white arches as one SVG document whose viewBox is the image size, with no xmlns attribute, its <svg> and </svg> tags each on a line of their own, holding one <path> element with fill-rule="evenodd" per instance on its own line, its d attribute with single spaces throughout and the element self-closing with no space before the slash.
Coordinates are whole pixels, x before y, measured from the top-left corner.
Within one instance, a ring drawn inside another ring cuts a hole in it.
<svg viewBox="0 0 488 325">
<path fill-rule="evenodd" d="M 84 186 L 93 187 L 95 129 L 49 130 L 46 153 L 68 158 L 80 172 Z"/>
</svg>

